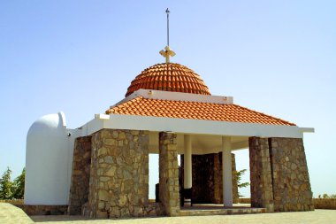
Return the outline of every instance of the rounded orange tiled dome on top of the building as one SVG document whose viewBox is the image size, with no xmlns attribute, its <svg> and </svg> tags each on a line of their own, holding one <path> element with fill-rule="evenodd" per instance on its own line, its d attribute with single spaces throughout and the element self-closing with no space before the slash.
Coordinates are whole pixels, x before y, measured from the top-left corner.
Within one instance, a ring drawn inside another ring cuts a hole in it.
<svg viewBox="0 0 336 224">
<path fill-rule="evenodd" d="M 176 63 L 163 63 L 146 68 L 131 82 L 125 97 L 138 89 L 211 95 L 200 75 Z"/>
</svg>

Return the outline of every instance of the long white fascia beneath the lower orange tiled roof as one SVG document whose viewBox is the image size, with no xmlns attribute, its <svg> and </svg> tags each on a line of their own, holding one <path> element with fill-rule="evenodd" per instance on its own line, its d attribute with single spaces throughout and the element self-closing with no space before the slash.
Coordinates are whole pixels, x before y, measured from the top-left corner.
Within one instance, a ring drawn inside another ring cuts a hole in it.
<svg viewBox="0 0 336 224">
<path fill-rule="evenodd" d="M 103 128 L 172 131 L 185 134 L 262 136 L 302 138 L 302 127 L 263 125 L 216 120 L 191 120 L 135 115 L 110 114 L 110 120 L 95 118 L 81 127 L 83 135 Z"/>
</svg>

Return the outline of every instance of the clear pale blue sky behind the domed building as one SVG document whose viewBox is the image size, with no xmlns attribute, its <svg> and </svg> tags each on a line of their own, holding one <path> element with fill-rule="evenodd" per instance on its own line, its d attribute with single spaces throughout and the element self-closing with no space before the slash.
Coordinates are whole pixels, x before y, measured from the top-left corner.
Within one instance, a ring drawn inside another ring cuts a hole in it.
<svg viewBox="0 0 336 224">
<path fill-rule="evenodd" d="M 172 61 L 213 95 L 315 127 L 304 137 L 312 190 L 335 194 L 336 2 L 324 0 L 1 1 L 0 173 L 25 166 L 34 120 L 63 111 L 80 127 L 164 62 L 167 7 Z"/>
</svg>

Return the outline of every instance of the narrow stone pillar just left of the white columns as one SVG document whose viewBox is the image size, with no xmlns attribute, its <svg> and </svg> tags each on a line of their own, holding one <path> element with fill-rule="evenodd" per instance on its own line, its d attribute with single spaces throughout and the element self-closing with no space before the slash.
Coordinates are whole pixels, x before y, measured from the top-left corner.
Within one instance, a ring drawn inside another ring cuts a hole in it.
<svg viewBox="0 0 336 224">
<path fill-rule="evenodd" d="M 164 213 L 179 215 L 177 135 L 173 133 L 159 133 L 159 194 Z"/>
</svg>

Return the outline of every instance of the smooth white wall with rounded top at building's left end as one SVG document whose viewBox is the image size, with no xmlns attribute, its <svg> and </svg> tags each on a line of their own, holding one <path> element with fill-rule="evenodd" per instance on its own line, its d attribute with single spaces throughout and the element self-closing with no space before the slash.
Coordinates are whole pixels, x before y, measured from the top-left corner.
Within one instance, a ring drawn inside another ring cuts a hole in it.
<svg viewBox="0 0 336 224">
<path fill-rule="evenodd" d="M 68 132 L 63 112 L 43 116 L 29 128 L 26 205 L 68 204 L 74 140 Z"/>
</svg>

